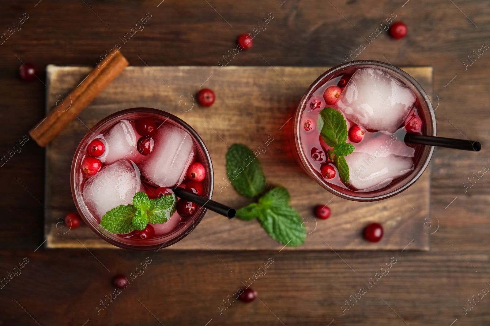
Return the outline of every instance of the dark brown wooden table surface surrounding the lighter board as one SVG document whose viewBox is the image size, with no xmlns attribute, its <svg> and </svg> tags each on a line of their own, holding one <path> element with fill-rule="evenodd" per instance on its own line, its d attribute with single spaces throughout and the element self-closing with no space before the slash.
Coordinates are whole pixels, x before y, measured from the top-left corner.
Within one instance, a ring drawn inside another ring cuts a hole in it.
<svg viewBox="0 0 490 326">
<path fill-rule="evenodd" d="M 267 29 L 230 65 L 337 65 L 394 13 L 408 36 L 382 32 L 358 59 L 434 66 L 438 134 L 483 144 L 479 153 L 435 152 L 430 251 L 47 250 L 44 150 L 29 140 L 0 168 L 0 279 L 21 273 L 2 285 L 0 325 L 488 325 L 490 298 L 480 293 L 490 289 L 490 175 L 465 188 L 490 166 L 490 54 L 481 50 L 490 44 L 488 1 L 282 1 L 2 1 L 1 33 L 28 19 L 0 45 L 0 155 L 44 116 L 45 75 L 21 82 L 21 61 L 95 66 L 147 13 L 144 30 L 122 45 L 131 65 L 218 65 L 237 35 L 269 13 Z M 144 274 L 98 311 L 114 291 L 111 278 L 147 257 Z M 253 283 L 260 300 L 220 312 L 270 257 Z M 369 288 L 393 257 L 389 274 Z M 366 293 L 343 311 L 360 288 Z"/>
</svg>

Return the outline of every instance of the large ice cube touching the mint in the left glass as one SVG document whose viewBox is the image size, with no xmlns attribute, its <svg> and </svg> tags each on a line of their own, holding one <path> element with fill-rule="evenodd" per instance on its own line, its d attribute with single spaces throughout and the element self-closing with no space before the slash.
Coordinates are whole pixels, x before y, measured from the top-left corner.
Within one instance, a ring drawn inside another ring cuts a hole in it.
<svg viewBox="0 0 490 326">
<path fill-rule="evenodd" d="M 82 196 L 92 214 L 101 218 L 114 207 L 131 204 L 140 187 L 138 167 L 129 160 L 120 160 L 90 177 Z"/>
</svg>

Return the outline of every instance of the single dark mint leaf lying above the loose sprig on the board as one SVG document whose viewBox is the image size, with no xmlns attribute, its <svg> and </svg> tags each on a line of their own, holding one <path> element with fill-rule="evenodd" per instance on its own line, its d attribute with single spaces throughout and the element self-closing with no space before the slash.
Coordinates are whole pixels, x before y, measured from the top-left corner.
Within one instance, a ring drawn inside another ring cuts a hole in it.
<svg viewBox="0 0 490 326">
<path fill-rule="evenodd" d="M 243 144 L 233 144 L 226 153 L 226 173 L 233 188 L 242 196 L 260 195 L 266 177 L 259 159 Z"/>
</svg>

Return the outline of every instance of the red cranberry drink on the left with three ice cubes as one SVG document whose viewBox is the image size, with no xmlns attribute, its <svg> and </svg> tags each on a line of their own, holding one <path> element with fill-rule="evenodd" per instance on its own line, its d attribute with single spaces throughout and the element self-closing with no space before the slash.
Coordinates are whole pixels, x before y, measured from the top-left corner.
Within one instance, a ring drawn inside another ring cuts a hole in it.
<svg viewBox="0 0 490 326">
<path fill-rule="evenodd" d="M 118 247 L 151 250 L 189 234 L 206 209 L 177 198 L 183 187 L 211 198 L 213 167 L 189 125 L 165 111 L 116 112 L 82 139 L 72 162 L 72 195 L 80 216 Z"/>
</svg>

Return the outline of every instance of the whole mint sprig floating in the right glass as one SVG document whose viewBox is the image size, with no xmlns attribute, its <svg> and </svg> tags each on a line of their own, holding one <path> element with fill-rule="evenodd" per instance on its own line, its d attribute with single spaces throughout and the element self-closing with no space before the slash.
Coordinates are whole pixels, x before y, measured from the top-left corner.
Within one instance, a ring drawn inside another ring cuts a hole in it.
<svg viewBox="0 0 490 326">
<path fill-rule="evenodd" d="M 322 120 L 320 136 L 328 146 L 333 147 L 333 151 L 328 150 L 328 158 L 333 159 L 339 176 L 343 183 L 349 183 L 349 166 L 344 156 L 356 149 L 354 145 L 346 143 L 347 122 L 342 113 L 332 108 L 325 108 L 320 111 Z"/>
</svg>

